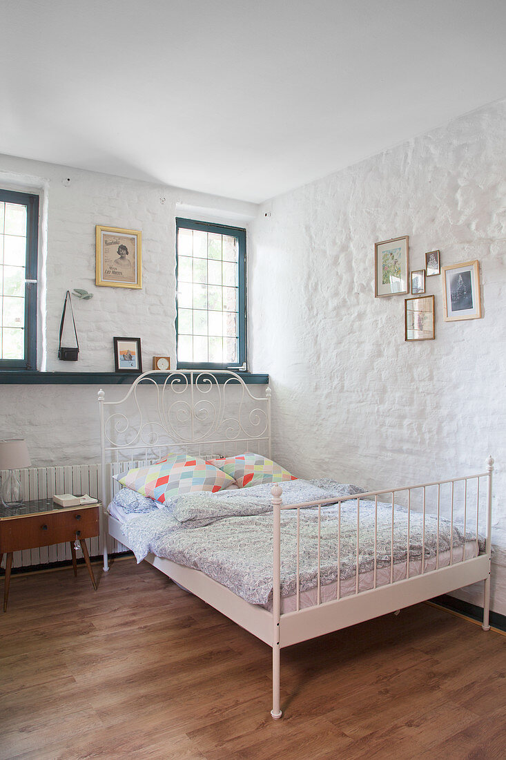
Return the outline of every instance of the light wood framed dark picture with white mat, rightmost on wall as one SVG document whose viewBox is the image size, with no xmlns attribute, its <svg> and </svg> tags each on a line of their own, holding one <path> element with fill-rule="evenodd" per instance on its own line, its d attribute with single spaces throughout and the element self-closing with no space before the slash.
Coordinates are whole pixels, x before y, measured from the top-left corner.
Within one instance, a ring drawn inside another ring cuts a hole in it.
<svg viewBox="0 0 506 760">
<path fill-rule="evenodd" d="M 479 290 L 479 261 L 451 264 L 443 273 L 444 321 L 479 319 L 482 299 Z"/>
</svg>

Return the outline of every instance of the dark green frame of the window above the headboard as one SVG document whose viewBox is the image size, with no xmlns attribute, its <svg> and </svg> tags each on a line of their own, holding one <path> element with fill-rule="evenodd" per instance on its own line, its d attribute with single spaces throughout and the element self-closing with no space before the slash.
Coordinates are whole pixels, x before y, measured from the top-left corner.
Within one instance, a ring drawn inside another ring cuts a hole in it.
<svg viewBox="0 0 506 760">
<path fill-rule="evenodd" d="M 194 363 L 177 360 L 178 369 L 246 369 L 246 230 L 242 227 L 228 226 L 210 222 L 201 222 L 192 219 L 176 218 L 176 283 L 178 280 L 179 261 L 179 230 L 200 230 L 207 233 L 233 236 L 238 245 L 238 361 L 229 363 Z M 179 298 L 176 296 L 176 342 L 179 342 L 178 329 Z M 176 345 L 177 350 L 177 345 Z"/>
</svg>

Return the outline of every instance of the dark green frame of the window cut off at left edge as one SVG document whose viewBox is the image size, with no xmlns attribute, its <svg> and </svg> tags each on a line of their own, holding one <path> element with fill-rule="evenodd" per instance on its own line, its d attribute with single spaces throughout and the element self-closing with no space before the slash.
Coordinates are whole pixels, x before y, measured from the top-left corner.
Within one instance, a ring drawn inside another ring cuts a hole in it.
<svg viewBox="0 0 506 760">
<path fill-rule="evenodd" d="M 0 201 L 27 207 L 27 252 L 24 286 L 24 359 L 2 359 L 0 369 L 36 369 L 37 359 L 37 252 L 39 245 L 39 196 L 0 189 Z M 0 293 L 3 298 L 3 290 Z"/>
</svg>

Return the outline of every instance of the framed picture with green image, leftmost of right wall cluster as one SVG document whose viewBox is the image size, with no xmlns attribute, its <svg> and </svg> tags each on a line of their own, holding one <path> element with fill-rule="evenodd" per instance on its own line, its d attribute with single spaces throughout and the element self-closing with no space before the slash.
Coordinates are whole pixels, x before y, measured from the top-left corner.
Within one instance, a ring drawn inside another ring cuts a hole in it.
<svg viewBox="0 0 506 760">
<path fill-rule="evenodd" d="M 409 249 L 407 235 L 375 244 L 375 298 L 410 292 Z"/>
</svg>

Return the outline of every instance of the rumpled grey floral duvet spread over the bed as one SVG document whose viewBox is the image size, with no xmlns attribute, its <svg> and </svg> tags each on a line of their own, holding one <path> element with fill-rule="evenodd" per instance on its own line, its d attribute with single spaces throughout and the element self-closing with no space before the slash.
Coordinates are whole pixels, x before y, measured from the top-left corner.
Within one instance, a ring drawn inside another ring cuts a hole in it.
<svg viewBox="0 0 506 760">
<path fill-rule="evenodd" d="M 357 486 L 334 480 L 293 480 L 282 483 L 283 504 L 298 504 L 364 492 Z M 162 508 L 135 515 L 124 524 L 129 546 L 141 562 L 148 553 L 195 568 L 228 587 L 250 603 L 269 605 L 272 599 L 273 521 L 270 484 L 248 489 L 195 493 L 172 499 Z M 296 592 L 297 510 L 281 512 L 281 594 Z M 321 508 L 322 585 L 337 581 L 337 549 L 340 524 L 340 578 L 356 575 L 357 501 L 350 499 Z M 300 591 L 318 583 L 318 509 L 300 511 Z M 394 542 L 391 547 L 392 507 L 378 503 L 377 567 L 406 562 L 408 512 L 394 508 Z M 422 515 L 410 514 L 410 559 L 421 559 L 424 526 Z M 473 534 L 443 518 L 425 517 L 425 558 L 463 546 Z M 479 550 L 485 548 L 479 539 Z M 375 560 L 375 504 L 360 499 L 359 573 L 371 571 Z"/>
</svg>

